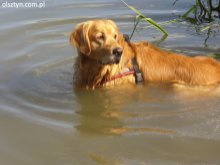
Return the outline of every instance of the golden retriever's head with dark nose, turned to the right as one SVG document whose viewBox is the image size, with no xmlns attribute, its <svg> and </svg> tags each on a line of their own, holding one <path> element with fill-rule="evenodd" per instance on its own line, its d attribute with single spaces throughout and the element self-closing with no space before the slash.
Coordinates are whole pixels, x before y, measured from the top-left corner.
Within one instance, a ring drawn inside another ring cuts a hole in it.
<svg viewBox="0 0 220 165">
<path fill-rule="evenodd" d="M 102 64 L 118 64 L 123 53 L 120 37 L 113 21 L 93 20 L 78 24 L 70 35 L 70 43 L 80 54 Z"/>
</svg>

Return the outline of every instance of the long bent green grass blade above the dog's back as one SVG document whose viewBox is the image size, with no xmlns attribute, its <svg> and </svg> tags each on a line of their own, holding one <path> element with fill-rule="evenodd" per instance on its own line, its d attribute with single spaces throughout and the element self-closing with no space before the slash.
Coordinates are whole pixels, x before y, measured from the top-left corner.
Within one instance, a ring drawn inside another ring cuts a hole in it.
<svg viewBox="0 0 220 165">
<path fill-rule="evenodd" d="M 166 38 L 168 36 L 168 32 L 164 28 L 162 28 L 157 22 L 155 22 L 153 19 L 146 17 L 144 14 L 138 11 L 135 7 L 128 5 L 124 0 L 121 0 L 121 2 L 123 2 L 128 8 L 130 8 L 132 11 L 134 11 L 137 14 L 137 16 L 135 17 L 134 29 L 130 35 L 130 39 L 132 38 L 135 30 L 137 29 L 137 25 L 140 23 L 141 20 L 144 20 L 150 23 L 156 29 L 161 31 L 164 34 L 163 38 Z"/>
</svg>

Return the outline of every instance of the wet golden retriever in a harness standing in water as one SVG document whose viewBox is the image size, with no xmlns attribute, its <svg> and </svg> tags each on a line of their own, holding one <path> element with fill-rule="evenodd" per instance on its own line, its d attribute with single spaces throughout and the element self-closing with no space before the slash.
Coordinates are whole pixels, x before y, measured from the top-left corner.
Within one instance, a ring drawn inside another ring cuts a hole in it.
<svg viewBox="0 0 220 165">
<path fill-rule="evenodd" d="M 220 63 L 161 50 L 149 42 L 129 42 L 111 20 L 90 20 L 76 26 L 70 43 L 77 48 L 74 83 L 78 88 L 164 82 L 186 86 L 220 83 Z M 134 62 L 135 61 L 135 62 Z M 141 80 L 140 80 L 141 81 Z"/>
</svg>

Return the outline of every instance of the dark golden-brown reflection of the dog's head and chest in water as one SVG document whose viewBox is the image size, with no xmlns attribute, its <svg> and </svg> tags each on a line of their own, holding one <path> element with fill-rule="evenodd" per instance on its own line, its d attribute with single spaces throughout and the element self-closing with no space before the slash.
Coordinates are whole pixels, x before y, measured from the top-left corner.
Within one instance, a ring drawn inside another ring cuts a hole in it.
<svg viewBox="0 0 220 165">
<path fill-rule="evenodd" d="M 126 103 L 120 95 L 109 96 L 108 91 L 77 91 L 77 102 L 80 104 L 80 124 L 77 129 L 83 134 L 109 134 L 113 128 L 122 128 L 121 115 L 118 111 Z M 114 102 L 114 103 L 113 103 Z M 117 114 L 117 115 L 113 115 Z"/>
</svg>

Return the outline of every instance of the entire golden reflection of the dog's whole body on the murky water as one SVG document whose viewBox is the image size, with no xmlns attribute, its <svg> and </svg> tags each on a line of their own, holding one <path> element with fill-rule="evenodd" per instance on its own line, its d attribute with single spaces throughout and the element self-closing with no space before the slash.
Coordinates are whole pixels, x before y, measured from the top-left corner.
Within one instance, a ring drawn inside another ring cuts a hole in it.
<svg viewBox="0 0 220 165">
<path fill-rule="evenodd" d="M 218 106 L 219 94 L 199 89 L 176 89 L 169 84 L 118 86 L 75 91 L 80 120 L 77 130 L 88 136 L 185 134 L 182 127 L 203 123 L 198 114 Z M 202 104 L 202 108 L 201 108 Z M 197 115 L 197 119 L 190 117 Z M 176 123 L 175 125 L 170 125 Z"/>
</svg>

